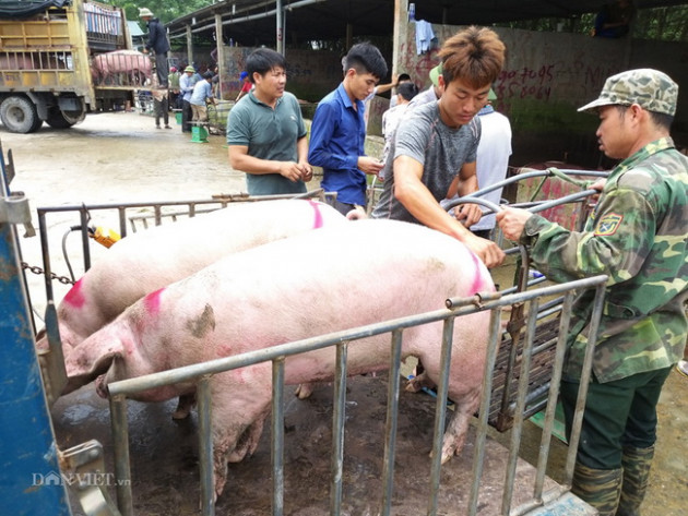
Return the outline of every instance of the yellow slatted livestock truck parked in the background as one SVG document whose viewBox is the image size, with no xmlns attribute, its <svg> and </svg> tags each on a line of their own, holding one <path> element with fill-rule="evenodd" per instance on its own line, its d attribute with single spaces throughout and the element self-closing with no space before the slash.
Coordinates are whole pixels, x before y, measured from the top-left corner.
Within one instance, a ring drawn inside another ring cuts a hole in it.
<svg viewBox="0 0 688 516">
<path fill-rule="evenodd" d="M 120 8 L 84 0 L 0 4 L 0 120 L 11 132 L 31 133 L 44 121 L 67 129 L 86 112 L 124 109 L 144 75 L 92 72 L 96 56 L 121 60 L 108 53 L 115 50 L 131 50 Z"/>
</svg>

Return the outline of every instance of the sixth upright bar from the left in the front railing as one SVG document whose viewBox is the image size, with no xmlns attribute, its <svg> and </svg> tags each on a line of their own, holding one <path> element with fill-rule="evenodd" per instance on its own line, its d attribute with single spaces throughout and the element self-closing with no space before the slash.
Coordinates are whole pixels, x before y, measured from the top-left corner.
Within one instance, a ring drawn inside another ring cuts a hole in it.
<svg viewBox="0 0 688 516">
<path fill-rule="evenodd" d="M 437 496 L 439 494 L 440 473 L 442 467 L 442 443 L 444 435 L 444 422 L 447 420 L 447 391 L 449 387 L 449 370 L 451 367 L 451 345 L 453 341 L 454 319 L 444 320 L 442 327 L 442 349 L 440 353 L 439 385 L 437 386 L 437 404 L 435 408 L 435 436 L 432 439 L 432 461 L 430 470 L 430 501 L 428 502 L 428 516 L 437 514 Z"/>
</svg>

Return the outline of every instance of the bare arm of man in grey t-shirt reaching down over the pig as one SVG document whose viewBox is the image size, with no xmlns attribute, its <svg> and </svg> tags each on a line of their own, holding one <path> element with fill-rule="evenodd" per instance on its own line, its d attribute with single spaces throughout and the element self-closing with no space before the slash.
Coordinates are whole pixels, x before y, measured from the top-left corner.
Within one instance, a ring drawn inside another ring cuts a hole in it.
<svg viewBox="0 0 688 516">
<path fill-rule="evenodd" d="M 394 196 L 423 225 L 463 242 L 485 265 L 499 265 L 505 253 L 489 240 L 475 237 L 449 215 L 422 181 L 423 164 L 408 156 L 394 159 Z"/>
</svg>

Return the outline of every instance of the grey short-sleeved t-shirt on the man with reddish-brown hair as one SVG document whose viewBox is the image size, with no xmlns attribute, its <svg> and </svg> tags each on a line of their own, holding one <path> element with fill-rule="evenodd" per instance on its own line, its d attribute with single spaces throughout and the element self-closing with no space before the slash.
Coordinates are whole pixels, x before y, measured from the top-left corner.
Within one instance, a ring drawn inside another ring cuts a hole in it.
<svg viewBox="0 0 688 516">
<path fill-rule="evenodd" d="M 372 211 L 372 218 L 392 218 L 420 224 L 394 197 L 394 161 L 408 156 L 423 164 L 422 181 L 439 202 L 464 163 L 475 161 L 481 141 L 481 121 L 474 117 L 471 123 L 452 129 L 442 122 L 437 101 L 407 111 L 392 142 L 390 159 L 384 165 L 384 189 Z"/>
</svg>

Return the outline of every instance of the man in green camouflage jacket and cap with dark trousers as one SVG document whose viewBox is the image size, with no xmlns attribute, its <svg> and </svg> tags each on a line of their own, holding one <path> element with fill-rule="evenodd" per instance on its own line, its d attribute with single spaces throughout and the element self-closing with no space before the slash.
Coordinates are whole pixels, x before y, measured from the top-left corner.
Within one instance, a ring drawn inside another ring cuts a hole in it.
<svg viewBox="0 0 688 516">
<path fill-rule="evenodd" d="M 600 148 L 621 159 L 598 184 L 582 232 L 522 209 L 497 215 L 505 236 L 530 244 L 549 279 L 609 276 L 572 485 L 603 516 L 640 514 L 656 403 L 686 345 L 688 158 L 669 137 L 677 96 L 666 74 L 631 70 L 607 79 L 600 98 L 579 109 L 598 113 Z M 592 297 L 577 300 L 571 322 L 560 397 L 568 432 Z"/>
</svg>

